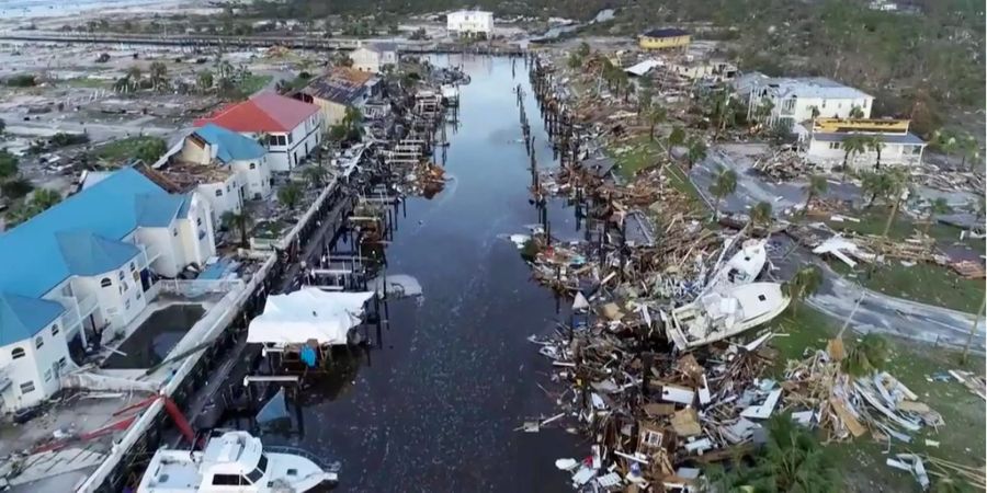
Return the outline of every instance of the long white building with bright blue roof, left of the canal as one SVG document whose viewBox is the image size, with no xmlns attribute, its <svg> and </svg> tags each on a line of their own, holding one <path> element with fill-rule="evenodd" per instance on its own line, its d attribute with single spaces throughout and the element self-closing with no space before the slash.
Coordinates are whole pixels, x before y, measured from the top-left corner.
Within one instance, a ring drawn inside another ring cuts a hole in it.
<svg viewBox="0 0 987 493">
<path fill-rule="evenodd" d="M 127 168 L 0 236 L 0 410 L 31 406 L 75 366 L 67 341 L 123 329 L 155 280 L 215 255 L 209 204 Z"/>
</svg>

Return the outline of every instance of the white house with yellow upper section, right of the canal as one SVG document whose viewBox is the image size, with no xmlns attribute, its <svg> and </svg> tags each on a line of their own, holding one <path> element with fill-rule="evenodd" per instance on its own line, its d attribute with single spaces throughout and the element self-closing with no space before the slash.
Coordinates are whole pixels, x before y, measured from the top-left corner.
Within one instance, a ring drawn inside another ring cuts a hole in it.
<svg viewBox="0 0 987 493">
<path fill-rule="evenodd" d="M 836 119 L 818 118 L 799 136 L 799 148 L 806 160 L 824 169 L 842 165 L 843 160 L 854 169 L 874 169 L 881 165 L 918 165 L 922 162 L 926 142 L 908 131 L 907 119 Z M 876 139 L 862 152 L 849 156 L 843 142 L 853 136 Z"/>
</svg>

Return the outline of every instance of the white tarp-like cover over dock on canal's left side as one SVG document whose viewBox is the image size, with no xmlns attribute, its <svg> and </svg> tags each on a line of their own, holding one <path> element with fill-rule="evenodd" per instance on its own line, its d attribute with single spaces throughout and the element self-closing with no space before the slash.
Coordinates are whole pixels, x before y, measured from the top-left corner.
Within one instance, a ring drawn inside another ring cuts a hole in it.
<svg viewBox="0 0 987 493">
<path fill-rule="evenodd" d="M 314 287 L 269 296 L 264 312 L 250 321 L 247 342 L 283 345 L 314 339 L 319 344 L 345 344 L 373 296 L 373 291 L 327 293 Z"/>
</svg>

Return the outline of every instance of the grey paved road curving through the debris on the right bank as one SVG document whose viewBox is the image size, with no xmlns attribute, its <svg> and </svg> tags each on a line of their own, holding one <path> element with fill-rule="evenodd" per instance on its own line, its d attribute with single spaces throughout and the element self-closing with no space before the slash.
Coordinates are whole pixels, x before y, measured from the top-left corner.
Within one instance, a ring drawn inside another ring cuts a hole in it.
<svg viewBox="0 0 987 493">
<path fill-rule="evenodd" d="M 735 156 L 735 154 L 734 154 Z M 751 173 L 753 160 L 734 159 L 731 154 L 718 148 L 710 151 L 710 156 L 690 172 L 690 179 L 708 200 L 708 185 L 713 173 L 719 167 L 730 167 L 737 171 L 737 191 L 721 204 L 721 211 L 742 213 L 760 202 L 770 202 L 775 214 L 791 209 L 795 204 L 805 200 L 805 183 L 772 184 L 761 181 Z M 830 186 L 830 194 L 840 197 L 854 192 L 851 184 Z M 807 249 L 794 244 L 789 238 L 772 239 L 775 245 L 770 259 L 776 270 L 772 275 L 779 279 L 787 279 L 798 267 L 816 264 L 825 273 L 819 293 L 807 302 L 814 308 L 839 320 L 844 320 L 853 310 L 853 306 L 862 291 L 866 296 L 853 316 L 851 326 L 861 333 L 881 332 L 910 340 L 935 343 L 939 345 L 963 346 L 974 322 L 974 316 L 948 308 L 919 303 L 887 296 L 877 291 L 861 288 L 843 276 L 830 270 L 825 262 Z M 795 250 L 792 250 L 792 248 Z M 789 253 L 789 251 L 791 253 Z M 787 254 L 787 257 L 782 257 Z M 985 352 L 985 323 L 980 321 L 978 333 L 974 337 L 973 348 Z"/>
</svg>

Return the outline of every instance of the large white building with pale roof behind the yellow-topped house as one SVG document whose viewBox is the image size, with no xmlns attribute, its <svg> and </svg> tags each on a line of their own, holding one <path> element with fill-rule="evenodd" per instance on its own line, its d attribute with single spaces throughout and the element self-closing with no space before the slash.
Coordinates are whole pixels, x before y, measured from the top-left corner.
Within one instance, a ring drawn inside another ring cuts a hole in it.
<svg viewBox="0 0 987 493">
<path fill-rule="evenodd" d="M 748 104 L 748 119 L 757 116 L 761 104 L 771 102 L 768 125 L 782 121 L 794 126 L 814 116 L 849 118 L 853 108 L 860 108 L 858 117 L 870 118 L 874 103 L 874 96 L 821 77 L 772 78 L 753 72 L 737 78 L 734 88 Z"/>
</svg>

